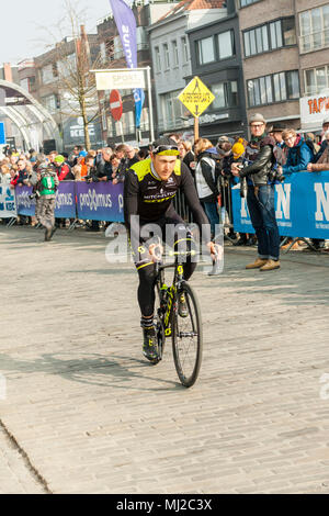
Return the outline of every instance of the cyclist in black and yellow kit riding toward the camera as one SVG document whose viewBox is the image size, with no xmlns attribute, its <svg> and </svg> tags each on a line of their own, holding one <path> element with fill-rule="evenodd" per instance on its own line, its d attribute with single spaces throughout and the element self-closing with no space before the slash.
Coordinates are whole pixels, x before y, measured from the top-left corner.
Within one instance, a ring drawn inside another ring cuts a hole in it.
<svg viewBox="0 0 329 516">
<path fill-rule="evenodd" d="M 182 189 L 185 195 L 203 240 L 212 255 L 215 255 L 215 244 L 211 242 L 207 216 L 200 203 L 191 172 L 186 165 L 180 161 L 179 155 L 178 144 L 173 139 L 163 137 L 155 142 L 150 158 L 133 165 L 126 173 L 124 184 L 125 225 L 139 276 L 138 303 L 141 312 L 140 326 L 144 330 L 143 352 L 150 361 L 157 359 L 157 336 L 154 325 L 157 256 L 155 239 L 150 238 L 147 232 L 149 226 L 146 226 L 151 224 L 150 232 L 161 236 L 162 240 L 167 237 L 172 242 L 173 238 L 174 248 L 182 242 L 188 250 L 194 247 L 189 227 L 172 204 L 179 189 Z M 196 263 L 188 257 L 184 265 L 184 280 L 191 278 L 195 267 Z M 186 316 L 183 295 L 179 298 L 179 314 Z"/>
</svg>

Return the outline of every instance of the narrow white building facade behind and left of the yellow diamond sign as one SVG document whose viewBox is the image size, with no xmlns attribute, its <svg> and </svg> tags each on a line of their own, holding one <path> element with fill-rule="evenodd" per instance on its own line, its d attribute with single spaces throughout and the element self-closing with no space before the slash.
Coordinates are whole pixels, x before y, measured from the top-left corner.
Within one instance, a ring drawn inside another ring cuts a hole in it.
<svg viewBox="0 0 329 516">
<path fill-rule="evenodd" d="M 227 15 L 222 0 L 188 0 L 173 7 L 149 27 L 158 133 L 192 134 L 190 112 L 178 96 L 192 78 L 189 31 Z"/>
</svg>

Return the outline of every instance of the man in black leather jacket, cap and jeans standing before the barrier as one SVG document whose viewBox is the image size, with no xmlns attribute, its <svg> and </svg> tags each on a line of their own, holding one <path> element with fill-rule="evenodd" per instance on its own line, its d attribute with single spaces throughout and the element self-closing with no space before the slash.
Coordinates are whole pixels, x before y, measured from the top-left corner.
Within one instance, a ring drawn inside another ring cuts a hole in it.
<svg viewBox="0 0 329 516">
<path fill-rule="evenodd" d="M 268 271 L 280 268 L 280 235 L 275 220 L 274 181 L 270 179 L 275 165 L 275 141 L 265 133 L 266 122 L 260 113 L 251 116 L 249 125 L 252 135 L 249 143 L 250 165 L 240 170 L 232 164 L 231 171 L 234 176 L 247 178 L 247 204 L 258 238 L 259 256 L 254 262 L 247 265 L 246 269 Z"/>
</svg>

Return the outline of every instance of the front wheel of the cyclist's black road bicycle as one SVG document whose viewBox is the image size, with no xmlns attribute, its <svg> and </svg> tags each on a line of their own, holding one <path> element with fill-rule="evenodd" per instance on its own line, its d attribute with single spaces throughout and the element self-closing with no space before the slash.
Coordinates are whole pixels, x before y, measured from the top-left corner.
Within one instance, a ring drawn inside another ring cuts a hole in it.
<svg viewBox="0 0 329 516">
<path fill-rule="evenodd" d="M 202 362 L 202 321 L 198 301 L 188 283 L 183 283 L 178 298 L 184 295 L 184 316 L 178 307 L 172 317 L 172 351 L 181 383 L 190 388 L 198 375 Z"/>
</svg>

